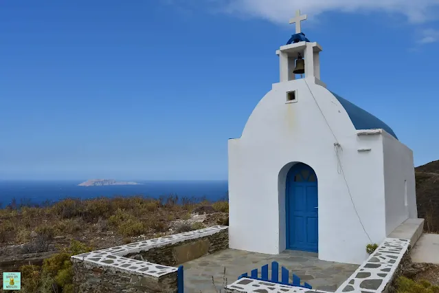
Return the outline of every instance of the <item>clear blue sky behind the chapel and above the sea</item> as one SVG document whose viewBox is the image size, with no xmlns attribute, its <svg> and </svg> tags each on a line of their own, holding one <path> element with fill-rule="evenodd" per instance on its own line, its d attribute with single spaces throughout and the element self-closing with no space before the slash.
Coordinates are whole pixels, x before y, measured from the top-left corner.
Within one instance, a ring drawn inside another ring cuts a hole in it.
<svg viewBox="0 0 439 293">
<path fill-rule="evenodd" d="M 439 160 L 436 0 L 10 0 L 0 179 L 226 179 L 296 9 L 328 89 Z"/>
</svg>

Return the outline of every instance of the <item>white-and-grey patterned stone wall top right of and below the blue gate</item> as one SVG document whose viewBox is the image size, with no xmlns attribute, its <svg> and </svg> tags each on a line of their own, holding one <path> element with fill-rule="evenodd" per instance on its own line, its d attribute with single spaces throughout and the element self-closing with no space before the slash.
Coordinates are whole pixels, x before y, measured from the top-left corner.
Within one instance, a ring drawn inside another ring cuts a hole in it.
<svg viewBox="0 0 439 293">
<path fill-rule="evenodd" d="M 383 292 L 385 286 L 392 281 L 393 274 L 398 268 L 405 252 L 409 249 L 409 239 L 386 238 L 383 243 L 366 259 L 363 264 L 337 289 L 336 293 L 341 292 Z M 375 267 L 375 268 L 374 268 Z M 366 281 L 369 283 L 379 283 L 376 289 L 360 287 Z M 310 282 L 312 283 L 312 281 Z M 234 292 L 255 292 L 255 290 L 267 290 L 267 292 L 289 293 L 289 292 L 322 292 L 315 289 L 306 289 L 290 285 L 279 285 L 267 281 L 242 278 L 234 283 L 227 285 L 228 290 Z"/>
</svg>

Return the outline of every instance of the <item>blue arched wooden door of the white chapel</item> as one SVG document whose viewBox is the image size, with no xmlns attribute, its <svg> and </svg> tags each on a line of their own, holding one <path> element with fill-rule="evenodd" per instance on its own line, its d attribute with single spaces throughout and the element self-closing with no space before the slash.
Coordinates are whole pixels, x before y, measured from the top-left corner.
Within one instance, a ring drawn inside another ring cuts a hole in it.
<svg viewBox="0 0 439 293">
<path fill-rule="evenodd" d="M 286 176 L 286 248 L 317 252 L 319 247 L 317 176 L 302 163 Z"/>
</svg>

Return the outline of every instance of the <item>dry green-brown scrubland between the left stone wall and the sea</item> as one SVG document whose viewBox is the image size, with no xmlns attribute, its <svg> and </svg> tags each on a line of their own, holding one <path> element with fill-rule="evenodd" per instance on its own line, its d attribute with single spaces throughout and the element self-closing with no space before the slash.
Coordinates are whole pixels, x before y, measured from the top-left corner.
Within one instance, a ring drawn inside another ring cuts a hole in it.
<svg viewBox="0 0 439 293">
<path fill-rule="evenodd" d="M 182 202 L 182 204 L 179 204 Z M 122 243 L 163 237 L 216 225 L 216 214 L 206 223 L 190 223 L 191 213 L 227 213 L 227 202 L 194 202 L 177 196 L 150 199 L 144 197 L 100 197 L 64 199 L 52 206 L 39 207 L 14 204 L 0 209 L 0 245 L 22 244 L 9 252 L 20 254 L 54 252 L 43 265 L 23 265 L 23 293 L 73 292 L 71 255 L 102 249 Z M 172 224 L 172 221 L 177 221 Z M 172 228 L 172 232 L 170 231 Z M 81 239 L 81 241 L 76 241 Z M 9 255 L 1 255 L 8 257 Z"/>
</svg>

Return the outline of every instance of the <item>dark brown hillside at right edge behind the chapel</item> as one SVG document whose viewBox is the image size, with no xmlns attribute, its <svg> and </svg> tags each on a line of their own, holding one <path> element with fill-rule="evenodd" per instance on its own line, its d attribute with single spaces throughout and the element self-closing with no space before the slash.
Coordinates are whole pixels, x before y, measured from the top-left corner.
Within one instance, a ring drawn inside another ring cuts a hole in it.
<svg viewBox="0 0 439 293">
<path fill-rule="evenodd" d="M 439 160 L 415 168 L 418 217 L 425 232 L 439 232 Z"/>
</svg>

